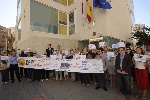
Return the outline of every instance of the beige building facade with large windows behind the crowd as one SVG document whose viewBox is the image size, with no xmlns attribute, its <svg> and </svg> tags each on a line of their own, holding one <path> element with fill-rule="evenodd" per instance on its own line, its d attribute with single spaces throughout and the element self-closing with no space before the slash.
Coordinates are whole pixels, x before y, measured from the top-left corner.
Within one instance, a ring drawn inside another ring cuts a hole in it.
<svg viewBox="0 0 150 100">
<path fill-rule="evenodd" d="M 92 0 L 88 1 L 92 5 Z M 43 54 L 48 44 L 69 50 L 82 49 L 90 42 L 111 45 L 129 41 L 134 26 L 133 1 L 113 0 L 110 4 L 112 9 L 107 10 L 92 7 L 92 22 L 88 23 L 86 0 L 18 0 L 14 48 Z"/>
</svg>

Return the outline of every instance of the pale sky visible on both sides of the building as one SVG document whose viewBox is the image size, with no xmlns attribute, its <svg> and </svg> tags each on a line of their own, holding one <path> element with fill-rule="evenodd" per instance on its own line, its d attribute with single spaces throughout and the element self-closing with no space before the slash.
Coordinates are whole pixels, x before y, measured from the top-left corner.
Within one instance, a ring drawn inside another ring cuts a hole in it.
<svg viewBox="0 0 150 100">
<path fill-rule="evenodd" d="M 134 0 L 135 24 L 150 27 L 150 0 Z M 17 0 L 0 0 L 0 25 L 14 27 L 16 24 Z"/>
</svg>

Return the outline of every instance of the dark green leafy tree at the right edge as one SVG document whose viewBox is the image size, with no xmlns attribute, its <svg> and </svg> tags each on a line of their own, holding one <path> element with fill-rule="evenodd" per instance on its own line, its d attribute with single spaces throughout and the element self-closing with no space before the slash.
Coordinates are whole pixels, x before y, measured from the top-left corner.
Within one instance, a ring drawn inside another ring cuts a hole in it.
<svg viewBox="0 0 150 100">
<path fill-rule="evenodd" d="M 136 39 L 137 46 L 150 45 L 150 27 L 135 28 L 130 39 Z"/>
</svg>

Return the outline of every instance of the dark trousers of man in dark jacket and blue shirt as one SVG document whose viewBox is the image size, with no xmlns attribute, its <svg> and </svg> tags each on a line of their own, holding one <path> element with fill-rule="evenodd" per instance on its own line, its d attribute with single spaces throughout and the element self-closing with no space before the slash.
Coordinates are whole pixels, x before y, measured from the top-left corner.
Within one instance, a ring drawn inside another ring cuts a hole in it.
<svg viewBox="0 0 150 100">
<path fill-rule="evenodd" d="M 120 83 L 120 92 L 125 93 L 126 95 L 131 95 L 130 76 L 118 74 L 118 78 Z"/>
</svg>

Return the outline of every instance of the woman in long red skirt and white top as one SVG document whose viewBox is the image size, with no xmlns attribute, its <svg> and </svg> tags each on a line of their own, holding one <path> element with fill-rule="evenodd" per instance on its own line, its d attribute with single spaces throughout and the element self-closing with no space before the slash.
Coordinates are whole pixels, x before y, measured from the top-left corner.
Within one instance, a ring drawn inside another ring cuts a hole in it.
<svg viewBox="0 0 150 100">
<path fill-rule="evenodd" d="M 138 54 L 139 57 L 141 57 L 142 48 L 137 47 L 136 53 Z M 136 72 L 135 72 L 136 83 L 137 83 L 137 88 L 139 89 L 139 93 L 138 95 L 136 95 L 136 97 L 142 96 L 141 100 L 146 100 L 147 90 L 149 88 L 148 71 L 147 71 L 149 64 L 147 61 L 141 62 L 135 60 L 135 66 L 136 66 Z"/>
</svg>

